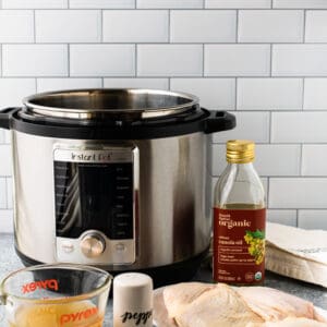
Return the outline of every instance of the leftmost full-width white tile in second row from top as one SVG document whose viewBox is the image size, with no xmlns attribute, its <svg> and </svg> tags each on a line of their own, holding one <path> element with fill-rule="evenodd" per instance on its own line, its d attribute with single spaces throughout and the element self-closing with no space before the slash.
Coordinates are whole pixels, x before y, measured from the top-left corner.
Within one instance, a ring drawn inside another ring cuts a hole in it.
<svg viewBox="0 0 327 327">
<path fill-rule="evenodd" d="M 101 40 L 98 10 L 37 10 L 37 43 L 96 43 Z"/>
</svg>

